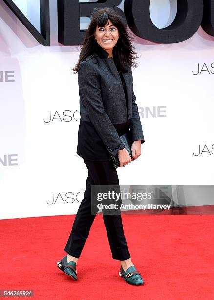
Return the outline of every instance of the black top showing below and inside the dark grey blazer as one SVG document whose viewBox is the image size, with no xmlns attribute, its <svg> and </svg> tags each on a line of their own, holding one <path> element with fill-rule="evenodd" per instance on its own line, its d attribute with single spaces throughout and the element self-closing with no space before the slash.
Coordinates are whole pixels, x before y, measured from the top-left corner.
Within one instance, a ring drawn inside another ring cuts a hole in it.
<svg viewBox="0 0 214 300">
<path fill-rule="evenodd" d="M 116 63 L 115 66 L 118 70 L 123 85 L 125 98 L 126 98 L 127 112 L 128 112 L 128 97 L 127 97 L 126 83 Z M 113 124 L 113 125 L 118 135 L 121 136 L 127 131 L 129 131 L 130 123 L 131 123 L 131 119 L 129 119 L 126 123 Z M 79 147 L 81 147 L 82 149 L 81 155 L 78 149 Z M 84 153 L 83 153 L 83 149 L 84 149 Z M 106 161 L 112 159 L 110 153 L 108 152 L 105 144 L 103 143 L 102 139 L 98 135 L 93 124 L 91 122 L 87 122 L 83 120 L 80 120 L 80 125 L 79 125 L 77 154 L 86 160 L 92 160 L 92 161 Z"/>
</svg>

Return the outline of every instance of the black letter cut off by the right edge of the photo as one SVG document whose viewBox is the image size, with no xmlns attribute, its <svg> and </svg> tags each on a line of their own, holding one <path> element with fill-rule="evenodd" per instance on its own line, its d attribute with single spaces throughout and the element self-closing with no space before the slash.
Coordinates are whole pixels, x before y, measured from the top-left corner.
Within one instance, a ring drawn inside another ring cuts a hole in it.
<svg viewBox="0 0 214 300">
<path fill-rule="evenodd" d="M 204 15 L 201 27 L 214 36 L 214 0 L 204 0 Z"/>
</svg>

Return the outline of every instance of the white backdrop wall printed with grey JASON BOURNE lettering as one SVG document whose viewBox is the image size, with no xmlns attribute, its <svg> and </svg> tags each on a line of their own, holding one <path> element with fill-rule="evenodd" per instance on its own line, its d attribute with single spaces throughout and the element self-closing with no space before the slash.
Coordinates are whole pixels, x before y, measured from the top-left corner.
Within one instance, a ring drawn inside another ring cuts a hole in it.
<svg viewBox="0 0 214 300">
<path fill-rule="evenodd" d="M 79 93 L 71 70 L 80 46 L 58 44 L 57 1 L 50 2 L 51 46 L 44 47 L 0 1 L 2 219 L 75 214 L 86 187 L 87 169 L 76 154 Z M 173 20 L 167 14 L 164 20 Z M 136 37 L 134 47 L 140 56 L 132 69 L 134 93 L 146 141 L 136 161 L 117 169 L 120 184 L 213 185 L 214 38 L 199 28 L 182 43 Z M 203 71 L 193 75 L 198 64 Z"/>
</svg>

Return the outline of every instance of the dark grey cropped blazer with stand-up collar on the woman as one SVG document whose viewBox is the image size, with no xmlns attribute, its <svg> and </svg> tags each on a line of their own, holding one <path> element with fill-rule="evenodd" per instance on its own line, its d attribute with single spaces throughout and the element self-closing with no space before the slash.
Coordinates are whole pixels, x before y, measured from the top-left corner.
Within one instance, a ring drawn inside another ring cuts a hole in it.
<svg viewBox="0 0 214 300">
<path fill-rule="evenodd" d="M 122 73 L 128 95 L 127 114 L 123 85 L 113 58 L 108 58 L 107 51 L 100 49 L 102 55 L 94 53 L 96 58 L 89 55 L 79 65 L 80 118 L 94 125 L 107 150 L 116 155 L 118 150 L 124 148 L 124 144 L 113 124 L 122 124 L 131 119 L 132 141 L 141 140 L 142 144 L 144 135 L 133 92 L 131 66 L 126 64 L 129 71 Z"/>
</svg>

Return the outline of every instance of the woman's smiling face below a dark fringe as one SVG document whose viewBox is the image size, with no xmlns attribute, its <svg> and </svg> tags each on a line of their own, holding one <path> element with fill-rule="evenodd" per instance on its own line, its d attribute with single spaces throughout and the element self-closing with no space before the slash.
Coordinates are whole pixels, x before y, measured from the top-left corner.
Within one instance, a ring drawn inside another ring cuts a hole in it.
<svg viewBox="0 0 214 300">
<path fill-rule="evenodd" d="M 96 27 L 94 37 L 97 43 L 109 53 L 109 57 L 112 56 L 113 47 L 116 45 L 119 38 L 119 31 L 116 26 L 114 26 L 111 20 L 108 20 L 108 25 L 104 27 Z"/>
</svg>

